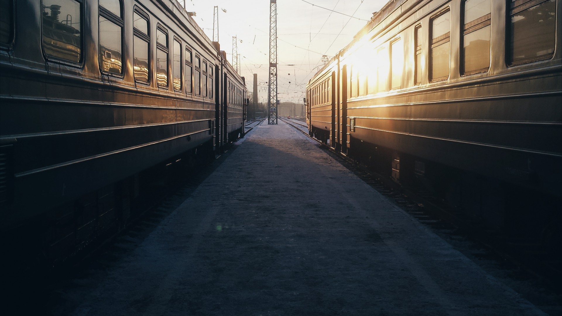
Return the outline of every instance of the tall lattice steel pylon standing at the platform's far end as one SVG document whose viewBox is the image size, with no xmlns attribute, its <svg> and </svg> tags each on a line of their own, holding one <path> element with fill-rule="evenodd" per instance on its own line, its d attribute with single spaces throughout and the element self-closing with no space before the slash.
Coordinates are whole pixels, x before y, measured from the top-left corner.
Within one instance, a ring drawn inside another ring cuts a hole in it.
<svg viewBox="0 0 562 316">
<path fill-rule="evenodd" d="M 277 124 L 277 0 L 269 0 L 268 124 Z"/>
</svg>

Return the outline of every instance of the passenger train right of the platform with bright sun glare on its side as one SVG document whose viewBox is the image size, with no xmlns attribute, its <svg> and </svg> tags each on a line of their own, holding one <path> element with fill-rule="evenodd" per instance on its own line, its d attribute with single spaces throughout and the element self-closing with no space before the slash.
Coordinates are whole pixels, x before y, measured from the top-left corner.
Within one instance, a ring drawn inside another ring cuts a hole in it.
<svg viewBox="0 0 562 316">
<path fill-rule="evenodd" d="M 560 236 L 561 3 L 388 2 L 310 79 L 310 133 L 510 236 Z"/>
</svg>

